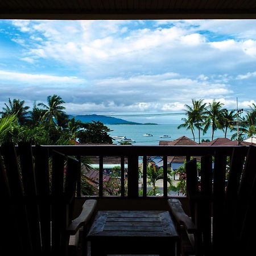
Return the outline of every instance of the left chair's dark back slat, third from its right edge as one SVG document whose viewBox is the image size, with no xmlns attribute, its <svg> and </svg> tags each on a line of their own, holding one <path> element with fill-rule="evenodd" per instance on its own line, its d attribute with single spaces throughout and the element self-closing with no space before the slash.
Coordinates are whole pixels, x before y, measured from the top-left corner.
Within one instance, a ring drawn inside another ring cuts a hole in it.
<svg viewBox="0 0 256 256">
<path fill-rule="evenodd" d="M 51 253 L 51 204 L 49 201 L 49 154 L 47 148 L 37 146 L 35 156 L 35 177 L 38 188 L 39 217 L 43 255 Z"/>
</svg>

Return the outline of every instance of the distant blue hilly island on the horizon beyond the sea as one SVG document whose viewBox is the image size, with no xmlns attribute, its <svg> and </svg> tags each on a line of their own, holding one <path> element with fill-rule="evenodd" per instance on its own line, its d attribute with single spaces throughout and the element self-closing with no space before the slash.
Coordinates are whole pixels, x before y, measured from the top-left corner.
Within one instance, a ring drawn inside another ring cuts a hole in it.
<svg viewBox="0 0 256 256">
<path fill-rule="evenodd" d="M 84 123 L 90 123 L 92 121 L 100 121 L 104 125 L 157 125 L 157 123 L 137 123 L 126 121 L 121 118 L 108 117 L 106 115 L 69 115 L 69 118 L 75 117 L 76 120 L 80 120 Z"/>
</svg>

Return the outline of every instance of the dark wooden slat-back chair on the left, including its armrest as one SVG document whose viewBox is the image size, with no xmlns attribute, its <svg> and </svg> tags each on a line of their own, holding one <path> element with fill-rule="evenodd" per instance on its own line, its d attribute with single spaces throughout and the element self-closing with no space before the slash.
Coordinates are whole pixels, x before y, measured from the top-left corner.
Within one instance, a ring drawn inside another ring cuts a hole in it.
<svg viewBox="0 0 256 256">
<path fill-rule="evenodd" d="M 87 200 L 72 221 L 79 162 L 29 143 L 3 144 L 0 155 L 0 255 L 68 255 L 69 236 L 96 207 Z"/>
</svg>

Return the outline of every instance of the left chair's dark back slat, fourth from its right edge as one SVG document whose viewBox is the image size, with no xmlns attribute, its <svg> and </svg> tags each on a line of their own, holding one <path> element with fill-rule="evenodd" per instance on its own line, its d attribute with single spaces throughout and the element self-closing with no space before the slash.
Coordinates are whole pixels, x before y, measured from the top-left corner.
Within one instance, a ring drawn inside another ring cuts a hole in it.
<svg viewBox="0 0 256 256">
<path fill-rule="evenodd" d="M 27 142 L 19 143 L 19 159 L 20 167 L 22 170 L 22 181 L 24 188 L 24 196 L 31 198 L 36 203 L 36 180 L 34 161 L 32 155 L 31 144 Z M 41 238 L 40 238 L 40 225 L 39 225 L 39 209 L 38 204 L 27 205 L 27 217 L 29 220 L 29 229 L 31 234 L 32 250 L 35 255 L 40 255 Z"/>
</svg>

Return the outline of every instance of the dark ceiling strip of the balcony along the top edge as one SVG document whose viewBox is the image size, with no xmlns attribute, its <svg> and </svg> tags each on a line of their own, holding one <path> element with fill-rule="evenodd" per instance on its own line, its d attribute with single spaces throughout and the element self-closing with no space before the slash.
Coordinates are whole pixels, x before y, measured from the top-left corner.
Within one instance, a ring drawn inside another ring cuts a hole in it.
<svg viewBox="0 0 256 256">
<path fill-rule="evenodd" d="M 0 0 L 0 19 L 255 18 L 255 0 Z"/>
</svg>

